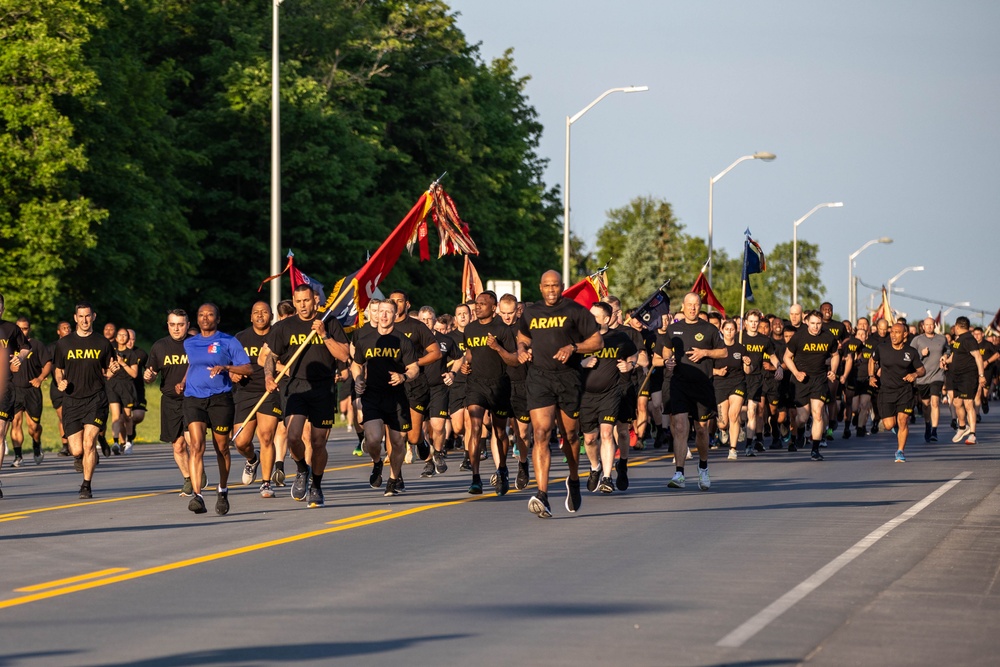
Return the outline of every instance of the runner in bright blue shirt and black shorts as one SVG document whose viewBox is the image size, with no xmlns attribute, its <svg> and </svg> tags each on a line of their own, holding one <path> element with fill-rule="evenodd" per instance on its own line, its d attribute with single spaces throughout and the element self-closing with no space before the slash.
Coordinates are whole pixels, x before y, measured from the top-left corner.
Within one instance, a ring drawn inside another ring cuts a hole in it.
<svg viewBox="0 0 1000 667">
<path fill-rule="evenodd" d="M 250 375 L 250 359 L 239 341 L 219 331 L 219 307 L 204 303 L 198 307 L 199 335 L 184 341 L 188 371 L 184 377 L 184 421 L 188 429 L 189 476 L 194 495 L 188 509 L 204 514 L 201 495 L 205 470 L 205 432 L 211 430 L 215 459 L 219 465 L 215 513 L 229 514 L 229 439 L 233 435 L 233 382 L 230 374 Z"/>
</svg>

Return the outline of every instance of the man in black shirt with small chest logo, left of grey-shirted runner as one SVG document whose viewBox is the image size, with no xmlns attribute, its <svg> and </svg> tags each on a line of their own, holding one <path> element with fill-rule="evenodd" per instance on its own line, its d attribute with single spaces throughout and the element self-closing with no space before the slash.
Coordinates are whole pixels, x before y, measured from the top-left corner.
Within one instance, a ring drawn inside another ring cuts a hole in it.
<svg viewBox="0 0 1000 667">
<path fill-rule="evenodd" d="M 913 382 L 924 375 L 920 354 L 907 345 L 906 333 L 906 325 L 893 324 L 889 342 L 875 348 L 875 354 L 868 360 L 868 382 L 881 387 L 878 400 L 882 425 L 896 433 L 896 463 L 906 463 L 903 450 L 913 414 Z"/>
</svg>

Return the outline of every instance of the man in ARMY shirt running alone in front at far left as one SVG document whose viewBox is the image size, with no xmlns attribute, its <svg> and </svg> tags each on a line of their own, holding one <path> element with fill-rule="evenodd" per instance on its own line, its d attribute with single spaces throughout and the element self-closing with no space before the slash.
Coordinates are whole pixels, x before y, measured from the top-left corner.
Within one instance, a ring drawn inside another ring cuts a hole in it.
<svg viewBox="0 0 1000 667">
<path fill-rule="evenodd" d="M 80 498 L 92 498 L 91 480 L 97 466 L 97 435 L 107 425 L 107 377 L 119 370 L 110 341 L 94 333 L 97 313 L 89 303 L 78 303 L 73 315 L 76 331 L 56 343 L 53 365 L 63 398 L 63 423 L 69 449 L 82 459 Z"/>
</svg>

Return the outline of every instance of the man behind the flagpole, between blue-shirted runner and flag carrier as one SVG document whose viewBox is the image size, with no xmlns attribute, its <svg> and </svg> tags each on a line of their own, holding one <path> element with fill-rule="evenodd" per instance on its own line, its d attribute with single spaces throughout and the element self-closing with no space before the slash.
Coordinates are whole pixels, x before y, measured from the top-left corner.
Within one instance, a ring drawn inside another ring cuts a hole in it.
<svg viewBox="0 0 1000 667">
<path fill-rule="evenodd" d="M 239 432 L 233 439 L 233 444 L 236 446 L 236 451 L 246 458 L 241 481 L 244 486 L 253 484 L 257 478 L 258 467 L 263 467 L 262 481 L 258 490 L 261 498 L 274 497 L 274 489 L 271 487 L 274 436 L 278 432 L 278 423 L 283 416 L 280 392 L 267 394 L 257 412 L 250 416 L 250 411 L 257 405 L 260 397 L 267 393 L 264 367 L 260 365 L 259 357 L 270 333 L 271 306 L 264 301 L 258 301 L 250 309 L 250 326 L 236 334 L 236 340 L 243 346 L 243 351 L 250 359 L 251 372 L 248 375 L 232 373 L 229 378 L 233 381 L 235 404 L 233 428 Z M 248 416 L 250 421 L 247 421 Z M 253 446 L 255 434 L 260 442 L 259 455 Z"/>
</svg>

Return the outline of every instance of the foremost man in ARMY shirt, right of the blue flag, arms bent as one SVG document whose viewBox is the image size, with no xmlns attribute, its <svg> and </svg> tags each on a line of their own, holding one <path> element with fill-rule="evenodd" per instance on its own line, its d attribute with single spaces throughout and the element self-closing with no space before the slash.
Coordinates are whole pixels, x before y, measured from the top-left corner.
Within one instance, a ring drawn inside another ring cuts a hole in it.
<svg viewBox="0 0 1000 667">
<path fill-rule="evenodd" d="M 805 325 L 788 341 L 785 366 L 792 375 L 795 404 L 798 406 L 796 422 L 805 424 L 812 414 L 812 452 L 814 461 L 822 461 L 819 453 L 826 429 L 826 404 L 830 401 L 830 381 L 837 376 L 840 353 L 837 339 L 823 329 L 823 318 L 815 310 L 805 317 Z M 791 446 L 789 449 L 792 449 Z"/>
</svg>

